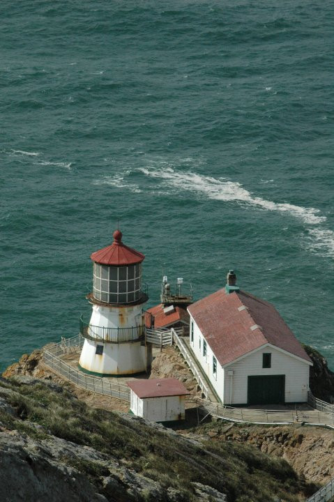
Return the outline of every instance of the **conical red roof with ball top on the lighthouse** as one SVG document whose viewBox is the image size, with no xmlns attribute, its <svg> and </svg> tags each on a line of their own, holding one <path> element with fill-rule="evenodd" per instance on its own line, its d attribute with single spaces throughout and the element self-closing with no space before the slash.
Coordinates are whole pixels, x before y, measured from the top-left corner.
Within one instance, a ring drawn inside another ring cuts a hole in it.
<svg viewBox="0 0 334 502">
<path fill-rule="evenodd" d="M 102 250 L 93 252 L 91 259 L 102 265 L 126 266 L 141 263 L 145 255 L 122 243 L 122 232 L 114 231 L 114 242 Z"/>
</svg>

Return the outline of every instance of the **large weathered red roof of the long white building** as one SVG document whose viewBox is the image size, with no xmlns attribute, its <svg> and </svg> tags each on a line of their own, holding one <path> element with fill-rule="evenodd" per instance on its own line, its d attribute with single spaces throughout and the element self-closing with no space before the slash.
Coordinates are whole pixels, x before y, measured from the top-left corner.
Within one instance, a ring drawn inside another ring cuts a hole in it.
<svg viewBox="0 0 334 502">
<path fill-rule="evenodd" d="M 270 343 L 308 362 L 308 354 L 271 303 L 225 289 L 188 307 L 221 365 Z"/>
</svg>

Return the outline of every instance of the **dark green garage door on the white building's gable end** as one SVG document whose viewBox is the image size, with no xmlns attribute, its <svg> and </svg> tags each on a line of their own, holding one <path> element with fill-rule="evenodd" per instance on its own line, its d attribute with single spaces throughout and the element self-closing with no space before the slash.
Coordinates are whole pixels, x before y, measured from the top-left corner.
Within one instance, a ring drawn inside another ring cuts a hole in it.
<svg viewBox="0 0 334 502">
<path fill-rule="evenodd" d="M 284 403 L 285 375 L 248 377 L 248 404 Z"/>
</svg>

